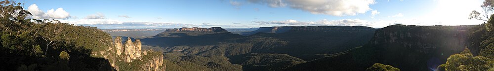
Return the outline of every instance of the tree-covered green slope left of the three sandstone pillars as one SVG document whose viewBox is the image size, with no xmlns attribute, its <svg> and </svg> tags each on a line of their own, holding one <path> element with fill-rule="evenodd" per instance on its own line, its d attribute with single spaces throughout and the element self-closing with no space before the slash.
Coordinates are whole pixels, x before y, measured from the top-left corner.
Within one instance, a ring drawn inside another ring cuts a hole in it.
<svg viewBox="0 0 494 71">
<path fill-rule="evenodd" d="M 91 56 L 111 46 L 109 34 L 56 20 L 25 19 L 30 12 L 14 1 L 0 1 L 0 9 L 0 71 L 113 70 L 107 60 Z"/>
</svg>

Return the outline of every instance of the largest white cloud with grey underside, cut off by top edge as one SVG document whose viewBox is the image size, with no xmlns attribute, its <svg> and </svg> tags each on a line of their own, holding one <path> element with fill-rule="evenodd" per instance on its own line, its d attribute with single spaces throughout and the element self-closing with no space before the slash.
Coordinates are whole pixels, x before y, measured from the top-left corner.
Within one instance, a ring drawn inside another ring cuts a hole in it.
<svg viewBox="0 0 494 71">
<path fill-rule="evenodd" d="M 267 4 L 270 7 L 289 6 L 311 12 L 333 16 L 353 16 L 365 13 L 374 0 L 248 0 L 251 3 Z"/>
</svg>

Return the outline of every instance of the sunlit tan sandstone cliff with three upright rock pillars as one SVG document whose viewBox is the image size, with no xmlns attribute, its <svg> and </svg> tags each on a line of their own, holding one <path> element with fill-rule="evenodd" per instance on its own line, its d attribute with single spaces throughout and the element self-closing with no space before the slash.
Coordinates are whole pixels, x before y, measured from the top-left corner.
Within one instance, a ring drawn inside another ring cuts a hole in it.
<svg viewBox="0 0 494 71">
<path fill-rule="evenodd" d="M 130 37 L 122 43 L 122 37 L 115 38 L 115 47 L 107 52 L 106 59 L 117 71 L 165 71 L 163 52 L 142 50 L 140 39 Z"/>
</svg>

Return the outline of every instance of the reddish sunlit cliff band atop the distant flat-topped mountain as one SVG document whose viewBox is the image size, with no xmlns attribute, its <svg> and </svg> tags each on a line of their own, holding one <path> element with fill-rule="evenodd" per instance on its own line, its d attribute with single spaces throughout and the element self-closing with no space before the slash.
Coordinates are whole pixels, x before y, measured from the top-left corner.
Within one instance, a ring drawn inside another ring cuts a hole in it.
<svg viewBox="0 0 494 71">
<path fill-rule="evenodd" d="M 197 28 L 197 27 L 193 27 L 193 28 L 180 28 L 180 29 L 168 29 L 166 30 L 168 32 L 218 32 L 218 31 L 226 31 L 225 29 L 221 28 L 221 27 L 212 27 L 212 28 Z"/>
</svg>

